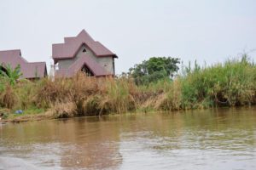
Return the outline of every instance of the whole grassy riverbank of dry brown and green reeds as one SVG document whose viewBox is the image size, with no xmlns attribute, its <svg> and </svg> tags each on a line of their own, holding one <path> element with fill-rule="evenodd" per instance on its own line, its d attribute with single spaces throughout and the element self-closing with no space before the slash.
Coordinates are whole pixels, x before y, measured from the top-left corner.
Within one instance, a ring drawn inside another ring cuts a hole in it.
<svg viewBox="0 0 256 170">
<path fill-rule="evenodd" d="M 172 111 L 256 104 L 256 65 L 246 58 L 193 69 L 171 80 L 137 86 L 127 77 L 94 78 L 78 74 L 54 82 L 1 82 L 0 114 L 5 119 L 96 116 L 128 111 Z M 22 110 L 22 114 L 15 111 Z"/>
</svg>

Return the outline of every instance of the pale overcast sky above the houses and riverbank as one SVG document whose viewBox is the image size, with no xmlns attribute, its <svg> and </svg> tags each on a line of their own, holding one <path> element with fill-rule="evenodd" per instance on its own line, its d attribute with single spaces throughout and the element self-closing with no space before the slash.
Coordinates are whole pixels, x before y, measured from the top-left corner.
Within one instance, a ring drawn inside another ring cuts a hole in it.
<svg viewBox="0 0 256 170">
<path fill-rule="evenodd" d="M 256 60 L 255 0 L 0 0 L 0 11 L 0 50 L 48 69 L 51 45 L 83 29 L 119 56 L 117 74 L 153 56 Z"/>
</svg>

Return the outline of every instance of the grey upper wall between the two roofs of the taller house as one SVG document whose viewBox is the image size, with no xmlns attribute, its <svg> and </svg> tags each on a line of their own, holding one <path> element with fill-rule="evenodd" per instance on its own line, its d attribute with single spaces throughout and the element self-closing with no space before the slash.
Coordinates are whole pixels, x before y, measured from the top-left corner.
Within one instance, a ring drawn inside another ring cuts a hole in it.
<svg viewBox="0 0 256 170">
<path fill-rule="evenodd" d="M 60 59 L 59 62 L 59 69 L 67 69 L 70 65 L 72 65 L 77 59 L 79 59 L 83 55 L 83 49 L 85 48 L 86 54 L 90 56 L 90 58 L 96 60 L 96 62 L 102 66 L 102 68 L 105 68 L 106 71 L 108 71 L 110 74 L 114 74 L 114 68 L 113 68 L 113 57 L 97 57 L 95 54 L 93 54 L 89 48 L 87 48 L 85 45 L 83 45 L 80 49 L 78 54 L 73 59 Z"/>
</svg>

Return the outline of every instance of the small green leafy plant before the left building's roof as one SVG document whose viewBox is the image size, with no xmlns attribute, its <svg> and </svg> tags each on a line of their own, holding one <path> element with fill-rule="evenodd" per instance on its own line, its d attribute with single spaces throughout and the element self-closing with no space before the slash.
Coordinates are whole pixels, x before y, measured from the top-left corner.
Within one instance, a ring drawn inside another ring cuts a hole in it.
<svg viewBox="0 0 256 170">
<path fill-rule="evenodd" d="M 10 65 L 0 65 L 0 77 L 7 80 L 11 85 L 14 85 L 21 76 L 20 65 L 17 65 L 14 70 Z"/>
</svg>

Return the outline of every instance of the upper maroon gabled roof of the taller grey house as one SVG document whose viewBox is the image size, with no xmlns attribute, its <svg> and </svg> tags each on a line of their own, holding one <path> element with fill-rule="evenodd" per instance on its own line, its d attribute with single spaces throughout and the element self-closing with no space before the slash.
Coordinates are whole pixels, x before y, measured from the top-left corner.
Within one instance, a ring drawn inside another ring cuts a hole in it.
<svg viewBox="0 0 256 170">
<path fill-rule="evenodd" d="M 55 62 L 58 59 L 70 59 L 77 54 L 79 48 L 85 44 L 97 57 L 113 56 L 117 58 L 108 48 L 101 42 L 96 42 L 90 35 L 82 30 L 77 37 L 64 37 L 64 43 L 56 43 L 52 45 L 52 58 Z"/>
</svg>

